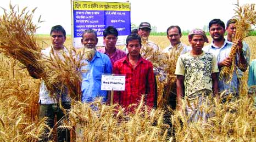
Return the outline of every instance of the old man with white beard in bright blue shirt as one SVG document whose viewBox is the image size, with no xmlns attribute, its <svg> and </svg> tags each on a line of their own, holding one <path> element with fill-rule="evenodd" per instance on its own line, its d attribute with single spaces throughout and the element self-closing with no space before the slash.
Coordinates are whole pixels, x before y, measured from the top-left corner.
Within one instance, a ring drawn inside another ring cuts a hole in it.
<svg viewBox="0 0 256 142">
<path fill-rule="evenodd" d="M 97 34 L 89 29 L 82 34 L 82 44 L 85 47 L 85 56 L 82 60 L 85 65 L 81 67 L 82 74 L 82 102 L 91 102 L 97 97 L 107 101 L 107 90 L 101 90 L 101 76 L 103 73 L 112 73 L 112 65 L 108 55 L 96 50 Z M 84 71 L 84 72 L 83 72 Z"/>
</svg>

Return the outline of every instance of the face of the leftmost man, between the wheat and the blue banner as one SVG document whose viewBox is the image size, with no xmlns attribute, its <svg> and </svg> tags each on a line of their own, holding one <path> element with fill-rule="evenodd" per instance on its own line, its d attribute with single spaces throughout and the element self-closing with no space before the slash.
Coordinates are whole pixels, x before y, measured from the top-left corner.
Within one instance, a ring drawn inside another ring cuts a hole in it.
<svg viewBox="0 0 256 142">
<path fill-rule="evenodd" d="M 63 44 L 66 41 L 66 37 L 61 31 L 52 31 L 51 41 L 54 49 L 62 49 L 64 47 Z"/>
</svg>

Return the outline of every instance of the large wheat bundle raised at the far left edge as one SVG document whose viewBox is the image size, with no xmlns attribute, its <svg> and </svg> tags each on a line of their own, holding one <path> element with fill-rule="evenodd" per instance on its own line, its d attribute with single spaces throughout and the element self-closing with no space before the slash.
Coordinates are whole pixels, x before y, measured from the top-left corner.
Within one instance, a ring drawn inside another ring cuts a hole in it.
<svg viewBox="0 0 256 142">
<path fill-rule="evenodd" d="M 17 13 L 15 7 L 10 4 L 10 12 L 4 9 L 0 17 L 0 52 L 19 60 L 25 66 L 34 66 L 38 74 L 42 74 L 43 65 L 37 61 L 41 58 L 41 48 L 34 35 L 37 25 L 32 22 L 36 8 L 32 12 L 26 12 L 24 8 Z M 38 22 L 42 22 L 40 18 Z"/>
</svg>

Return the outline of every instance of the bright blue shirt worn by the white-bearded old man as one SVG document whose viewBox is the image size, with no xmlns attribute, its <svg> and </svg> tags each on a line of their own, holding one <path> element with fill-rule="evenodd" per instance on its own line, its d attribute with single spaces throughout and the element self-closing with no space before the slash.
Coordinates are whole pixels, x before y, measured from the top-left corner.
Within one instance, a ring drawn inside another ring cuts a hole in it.
<svg viewBox="0 0 256 142">
<path fill-rule="evenodd" d="M 91 102 L 97 97 L 107 101 L 107 90 L 101 90 L 101 76 L 112 73 L 112 65 L 107 55 L 96 52 L 91 61 L 82 60 L 86 65 L 81 67 L 82 74 L 82 102 Z"/>
</svg>

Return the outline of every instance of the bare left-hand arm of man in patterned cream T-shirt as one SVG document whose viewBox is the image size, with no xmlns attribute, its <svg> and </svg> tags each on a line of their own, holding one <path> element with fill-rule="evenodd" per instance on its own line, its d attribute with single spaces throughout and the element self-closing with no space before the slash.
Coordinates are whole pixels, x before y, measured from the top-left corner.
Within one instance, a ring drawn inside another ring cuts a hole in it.
<svg viewBox="0 0 256 142">
<path fill-rule="evenodd" d="M 177 91 L 177 109 L 181 109 L 181 98 L 184 96 L 184 76 L 177 75 L 176 91 Z"/>
</svg>

